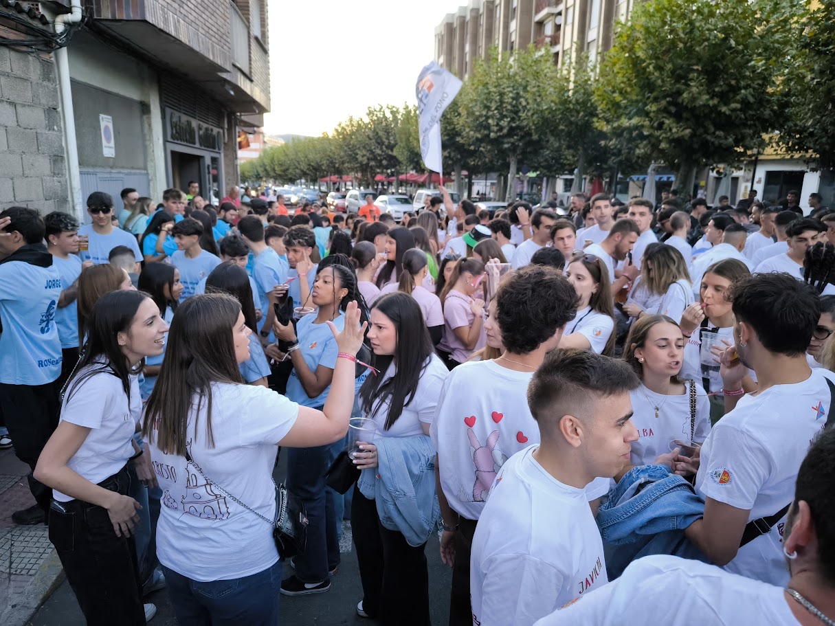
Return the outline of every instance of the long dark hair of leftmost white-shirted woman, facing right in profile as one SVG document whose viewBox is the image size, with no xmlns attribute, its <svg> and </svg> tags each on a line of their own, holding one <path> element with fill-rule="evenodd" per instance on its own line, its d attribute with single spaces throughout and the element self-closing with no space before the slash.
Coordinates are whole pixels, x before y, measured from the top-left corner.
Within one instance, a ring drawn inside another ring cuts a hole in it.
<svg viewBox="0 0 835 626">
<path fill-rule="evenodd" d="M 130 374 L 135 372 L 130 370 L 117 335 L 128 331 L 139 305 L 146 298 L 147 294 L 134 290 L 110 291 L 99 298 L 89 317 L 82 356 L 67 386 L 68 400 L 90 376 L 112 372 L 122 381 L 122 389 L 130 401 Z"/>
</svg>

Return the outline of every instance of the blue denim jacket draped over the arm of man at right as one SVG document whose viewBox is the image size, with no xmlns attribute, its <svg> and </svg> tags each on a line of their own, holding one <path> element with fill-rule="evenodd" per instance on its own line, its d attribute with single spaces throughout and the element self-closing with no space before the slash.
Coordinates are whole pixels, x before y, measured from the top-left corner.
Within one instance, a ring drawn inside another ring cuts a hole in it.
<svg viewBox="0 0 835 626">
<path fill-rule="evenodd" d="M 633 467 L 609 493 L 597 513 L 606 569 L 614 580 L 636 558 L 672 554 L 707 559 L 684 530 L 704 517 L 705 503 L 681 476 L 665 465 Z"/>
</svg>

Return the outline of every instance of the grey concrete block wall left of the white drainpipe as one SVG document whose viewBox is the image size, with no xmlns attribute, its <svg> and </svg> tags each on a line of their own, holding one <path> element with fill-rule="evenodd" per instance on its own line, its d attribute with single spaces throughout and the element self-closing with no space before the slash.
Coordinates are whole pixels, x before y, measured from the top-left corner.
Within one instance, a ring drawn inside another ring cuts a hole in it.
<svg viewBox="0 0 835 626">
<path fill-rule="evenodd" d="M 0 24 L 0 36 L 19 36 Z M 0 48 L 0 210 L 69 210 L 52 56 Z"/>
</svg>

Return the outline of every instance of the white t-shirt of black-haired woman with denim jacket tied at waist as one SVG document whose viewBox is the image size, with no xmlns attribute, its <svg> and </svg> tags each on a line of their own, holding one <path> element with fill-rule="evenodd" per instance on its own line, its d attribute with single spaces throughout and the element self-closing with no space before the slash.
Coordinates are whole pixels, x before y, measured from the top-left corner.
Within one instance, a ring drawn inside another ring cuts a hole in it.
<svg viewBox="0 0 835 626">
<path fill-rule="evenodd" d="M 396 368 L 394 363 L 388 366 L 386 373 L 383 375 L 383 381 L 387 381 L 394 376 Z M 400 416 L 397 421 L 392 424 L 392 427 L 386 430 L 386 419 L 388 411 L 392 403 L 391 398 L 387 398 L 380 406 L 374 402 L 372 412 L 369 413 L 374 422 L 377 422 L 377 437 L 412 437 L 414 435 L 423 435 L 423 427 L 421 424 L 431 424 L 435 416 L 435 409 L 438 406 L 438 401 L 441 397 L 441 388 L 443 381 L 449 375 L 447 366 L 443 365 L 443 361 L 433 354 L 429 356 L 426 369 L 417 380 L 417 389 L 412 401 L 406 406 L 403 406 Z M 406 396 L 408 400 L 409 396 Z"/>
</svg>

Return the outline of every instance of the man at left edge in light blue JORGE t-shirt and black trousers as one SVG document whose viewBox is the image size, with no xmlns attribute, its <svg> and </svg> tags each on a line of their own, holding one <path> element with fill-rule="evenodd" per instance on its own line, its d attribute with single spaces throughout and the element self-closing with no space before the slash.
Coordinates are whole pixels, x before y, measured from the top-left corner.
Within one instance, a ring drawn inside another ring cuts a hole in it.
<svg viewBox="0 0 835 626">
<path fill-rule="evenodd" d="M 0 411 L 15 455 L 31 469 L 58 426 L 60 409 L 56 381 L 62 351 L 55 311 L 61 275 L 43 245 L 44 235 L 38 211 L 13 206 L 0 213 Z M 47 519 L 52 489 L 31 473 L 28 481 L 38 503 L 13 512 L 16 524 Z"/>
</svg>

